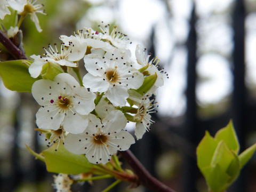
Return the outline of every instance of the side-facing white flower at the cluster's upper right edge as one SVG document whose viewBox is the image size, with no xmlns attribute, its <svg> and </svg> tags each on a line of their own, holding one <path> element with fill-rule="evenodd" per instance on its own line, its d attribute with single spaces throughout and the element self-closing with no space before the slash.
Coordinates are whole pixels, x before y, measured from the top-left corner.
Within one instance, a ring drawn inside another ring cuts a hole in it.
<svg viewBox="0 0 256 192">
<path fill-rule="evenodd" d="M 148 94 L 154 94 L 156 95 L 156 90 L 159 86 L 163 86 L 164 85 L 164 78 L 163 78 L 163 73 L 164 71 L 158 70 L 157 63 L 154 63 L 154 59 L 152 59 L 151 61 L 149 61 L 150 58 L 150 54 L 148 54 L 146 56 L 146 48 L 142 47 L 140 44 L 137 45 L 136 50 L 135 50 L 135 56 L 137 58 L 138 63 L 142 66 L 145 67 L 148 65 L 147 69 L 145 71 L 143 71 L 142 73 L 145 73 L 147 71 L 147 75 L 154 75 L 155 73 L 157 74 L 157 79 L 155 84 L 151 87 L 151 89 L 148 91 Z"/>
</svg>

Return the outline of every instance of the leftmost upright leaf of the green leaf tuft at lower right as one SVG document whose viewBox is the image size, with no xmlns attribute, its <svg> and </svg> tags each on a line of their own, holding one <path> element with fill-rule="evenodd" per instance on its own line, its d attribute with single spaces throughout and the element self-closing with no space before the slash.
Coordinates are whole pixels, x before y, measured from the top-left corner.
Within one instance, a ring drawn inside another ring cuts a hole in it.
<svg viewBox="0 0 256 192">
<path fill-rule="evenodd" d="M 206 131 L 204 138 L 196 149 L 197 165 L 199 169 L 203 169 L 205 166 L 209 166 L 211 164 L 217 145 L 218 143 L 211 137 L 209 132 Z"/>
</svg>

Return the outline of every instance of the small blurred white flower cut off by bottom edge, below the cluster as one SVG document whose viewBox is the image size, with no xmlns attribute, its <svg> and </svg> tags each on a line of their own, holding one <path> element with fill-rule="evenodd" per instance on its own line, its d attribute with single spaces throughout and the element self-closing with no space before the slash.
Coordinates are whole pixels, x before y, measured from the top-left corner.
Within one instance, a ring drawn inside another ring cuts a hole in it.
<svg viewBox="0 0 256 192">
<path fill-rule="evenodd" d="M 54 183 L 53 188 L 56 192 L 71 192 L 70 187 L 73 183 L 67 174 L 59 173 L 58 175 L 53 175 Z"/>
</svg>

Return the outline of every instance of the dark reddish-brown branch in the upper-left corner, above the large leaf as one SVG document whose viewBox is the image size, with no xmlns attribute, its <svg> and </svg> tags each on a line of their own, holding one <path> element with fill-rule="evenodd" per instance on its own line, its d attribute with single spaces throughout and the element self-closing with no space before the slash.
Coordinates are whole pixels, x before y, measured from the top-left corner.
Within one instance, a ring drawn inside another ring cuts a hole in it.
<svg viewBox="0 0 256 192">
<path fill-rule="evenodd" d="M 0 43 L 2 43 L 5 48 L 13 55 L 15 59 L 27 59 L 27 56 L 17 47 L 15 46 L 9 38 L 5 36 L 3 31 L 0 30 Z"/>
</svg>

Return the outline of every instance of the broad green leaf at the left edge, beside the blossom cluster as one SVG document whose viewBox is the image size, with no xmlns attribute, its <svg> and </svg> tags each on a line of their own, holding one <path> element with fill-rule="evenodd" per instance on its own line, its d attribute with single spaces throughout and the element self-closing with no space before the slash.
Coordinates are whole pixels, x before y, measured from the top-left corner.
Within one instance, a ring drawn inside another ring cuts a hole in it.
<svg viewBox="0 0 256 192">
<path fill-rule="evenodd" d="M 33 78 L 28 72 L 29 60 L 0 62 L 0 75 L 5 87 L 12 91 L 31 92 L 31 87 L 39 78 Z"/>
</svg>

